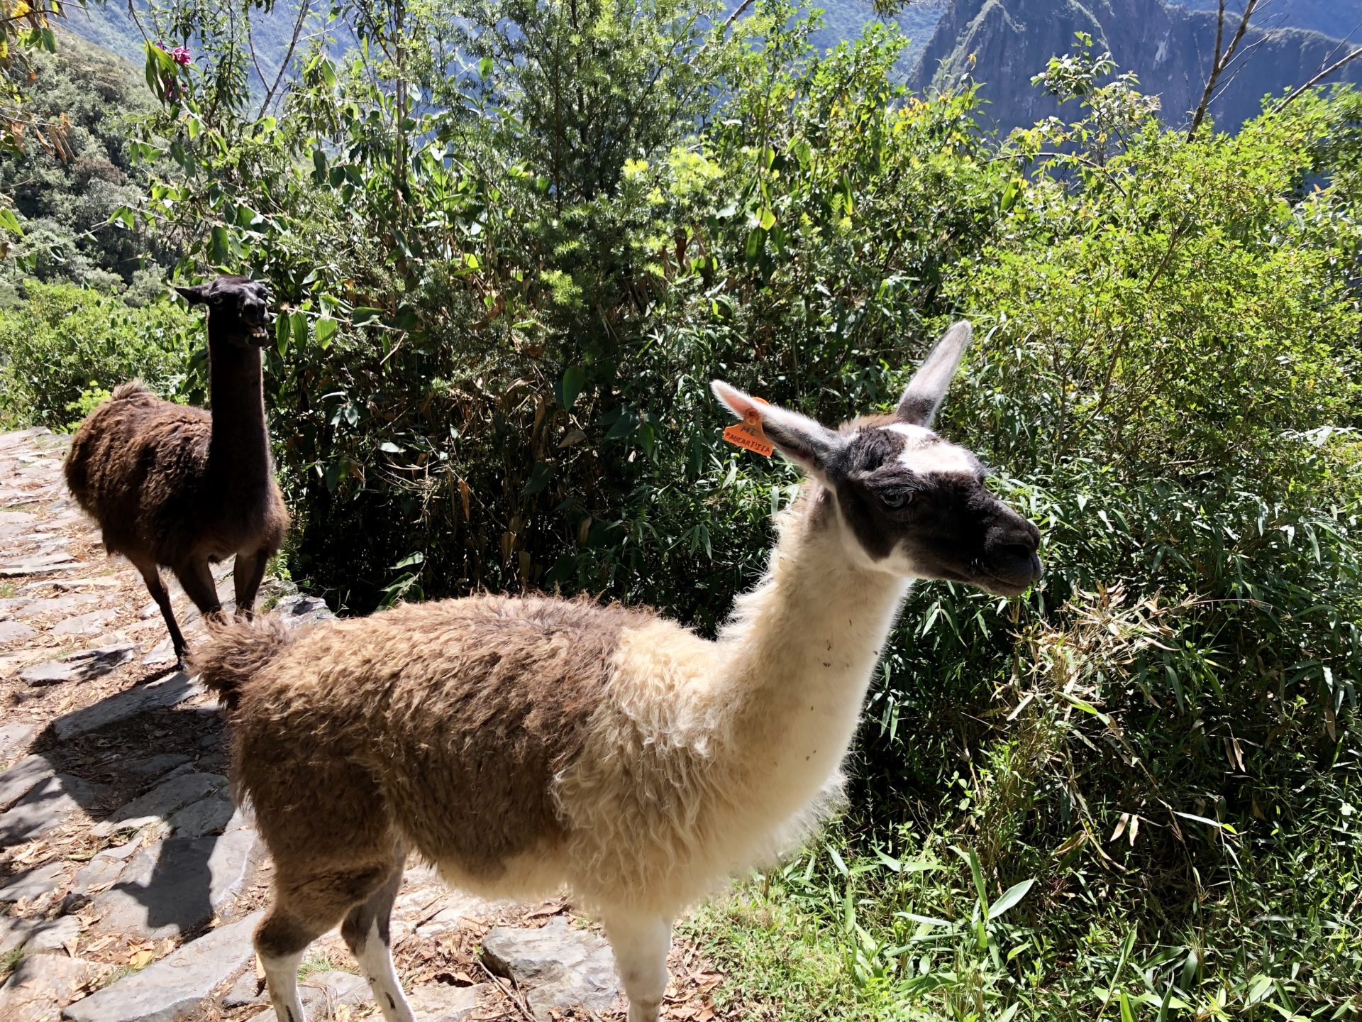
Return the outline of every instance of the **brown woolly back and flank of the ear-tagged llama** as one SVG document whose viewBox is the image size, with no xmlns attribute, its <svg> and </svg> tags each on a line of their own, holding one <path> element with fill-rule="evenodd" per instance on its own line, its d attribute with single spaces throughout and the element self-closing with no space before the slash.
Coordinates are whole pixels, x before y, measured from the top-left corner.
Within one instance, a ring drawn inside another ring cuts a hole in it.
<svg viewBox="0 0 1362 1022">
<path fill-rule="evenodd" d="M 264 819 L 328 815 L 474 887 L 565 838 L 556 775 L 579 758 L 621 635 L 643 612 L 481 595 L 409 604 L 290 642 L 268 619 L 214 630 L 195 662 L 230 707 L 234 773 Z M 336 786 L 353 797 L 336 801 Z M 287 827 L 266 834 L 274 849 Z"/>
</svg>

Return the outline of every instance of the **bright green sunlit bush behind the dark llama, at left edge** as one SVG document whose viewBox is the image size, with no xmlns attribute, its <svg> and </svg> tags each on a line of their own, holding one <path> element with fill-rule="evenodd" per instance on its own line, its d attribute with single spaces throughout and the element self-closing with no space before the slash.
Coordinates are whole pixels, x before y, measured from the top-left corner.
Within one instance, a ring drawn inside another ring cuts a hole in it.
<svg viewBox="0 0 1362 1022">
<path fill-rule="evenodd" d="M 23 304 L 0 312 L 0 416 L 10 424 L 78 424 L 124 380 L 162 397 L 197 390 L 202 323 L 170 301 L 129 308 L 69 283 L 25 283 Z M 200 353 L 202 360 L 202 353 Z"/>
</svg>

